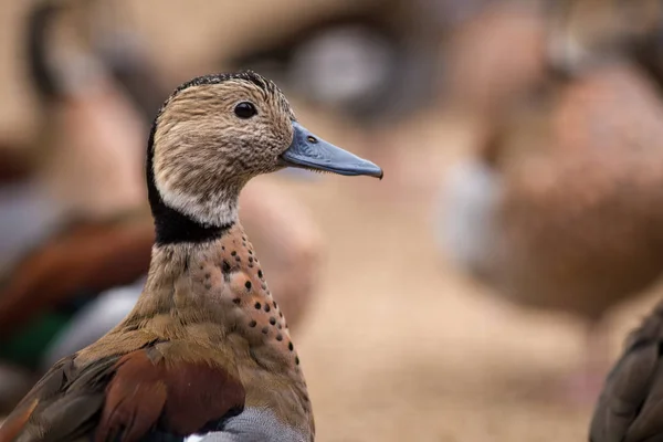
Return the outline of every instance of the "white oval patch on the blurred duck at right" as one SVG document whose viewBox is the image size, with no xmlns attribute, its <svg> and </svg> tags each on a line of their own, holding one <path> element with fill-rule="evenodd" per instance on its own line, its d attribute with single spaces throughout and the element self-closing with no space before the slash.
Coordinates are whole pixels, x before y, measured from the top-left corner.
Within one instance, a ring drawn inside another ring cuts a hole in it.
<svg viewBox="0 0 663 442">
<path fill-rule="evenodd" d="M 455 264 L 477 269 L 491 252 L 493 222 L 502 199 L 498 173 L 477 160 L 454 166 L 443 183 L 436 241 Z"/>
</svg>

